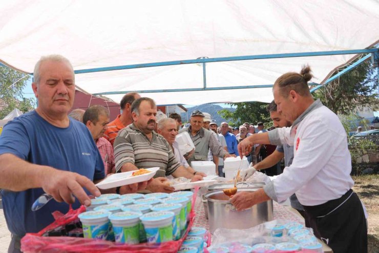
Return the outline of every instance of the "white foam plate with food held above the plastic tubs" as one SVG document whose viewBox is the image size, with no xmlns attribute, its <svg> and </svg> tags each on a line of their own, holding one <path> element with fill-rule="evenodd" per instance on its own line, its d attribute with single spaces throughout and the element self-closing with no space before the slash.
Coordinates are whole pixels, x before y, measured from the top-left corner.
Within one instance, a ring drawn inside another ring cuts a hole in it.
<svg viewBox="0 0 379 253">
<path fill-rule="evenodd" d="M 149 173 L 138 175 L 135 177 L 132 177 L 132 173 L 134 171 L 115 173 L 107 177 L 103 181 L 97 183 L 96 186 L 100 189 L 110 189 L 110 188 L 119 187 L 123 185 L 148 181 L 149 179 L 154 177 L 158 169 L 159 167 L 149 168 L 147 169 L 147 170 L 150 170 Z"/>
</svg>

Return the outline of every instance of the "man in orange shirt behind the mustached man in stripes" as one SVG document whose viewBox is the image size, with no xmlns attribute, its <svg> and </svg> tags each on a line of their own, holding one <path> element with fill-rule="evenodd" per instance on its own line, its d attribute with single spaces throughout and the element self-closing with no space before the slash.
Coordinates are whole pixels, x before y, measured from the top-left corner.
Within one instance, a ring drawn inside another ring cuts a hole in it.
<svg viewBox="0 0 379 253">
<path fill-rule="evenodd" d="M 112 145 L 115 142 L 118 131 L 132 124 L 132 103 L 139 98 L 141 96 L 138 93 L 129 92 L 121 99 L 120 107 L 122 114 L 119 114 L 114 121 L 108 124 L 108 129 L 104 132 L 103 136 Z"/>
</svg>

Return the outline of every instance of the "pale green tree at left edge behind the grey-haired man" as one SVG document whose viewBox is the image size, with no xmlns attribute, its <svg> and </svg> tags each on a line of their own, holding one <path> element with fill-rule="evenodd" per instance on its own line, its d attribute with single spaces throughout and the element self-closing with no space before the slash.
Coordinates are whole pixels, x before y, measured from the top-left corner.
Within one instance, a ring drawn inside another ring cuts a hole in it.
<svg viewBox="0 0 379 253">
<path fill-rule="evenodd" d="M 3 119 L 14 108 L 24 113 L 34 108 L 35 99 L 26 99 L 23 94 L 23 88 L 29 79 L 28 74 L 0 66 L 0 99 L 7 105 L 0 111 L 0 119 Z"/>
</svg>

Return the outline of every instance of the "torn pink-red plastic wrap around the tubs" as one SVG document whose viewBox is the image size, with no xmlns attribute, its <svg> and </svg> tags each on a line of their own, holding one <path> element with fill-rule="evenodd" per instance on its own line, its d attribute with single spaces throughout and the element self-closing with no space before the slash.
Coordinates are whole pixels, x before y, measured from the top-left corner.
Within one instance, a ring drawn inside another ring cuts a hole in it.
<svg viewBox="0 0 379 253">
<path fill-rule="evenodd" d="M 66 215 L 59 215 L 55 213 L 54 217 L 57 219 L 52 224 L 48 225 L 46 228 L 42 229 L 38 233 L 27 233 L 25 237 L 21 240 L 21 250 L 24 253 L 100 253 L 100 252 L 142 252 L 151 253 L 152 251 L 158 253 L 174 253 L 179 250 L 183 241 L 187 237 L 188 231 L 191 230 L 192 225 L 195 220 L 195 201 L 197 196 L 197 190 L 193 195 L 192 201 L 192 211 L 190 213 L 190 220 L 184 235 L 178 241 L 164 242 L 160 244 L 152 243 L 140 243 L 140 244 L 123 244 L 115 243 L 111 241 L 104 240 L 94 240 L 87 238 L 76 238 L 76 237 L 45 237 L 46 233 L 50 230 L 54 230 L 62 225 L 76 222 L 78 220 L 78 215 L 86 211 L 85 206 L 80 206 L 78 209 L 74 210 L 70 206 L 70 210 Z"/>
</svg>

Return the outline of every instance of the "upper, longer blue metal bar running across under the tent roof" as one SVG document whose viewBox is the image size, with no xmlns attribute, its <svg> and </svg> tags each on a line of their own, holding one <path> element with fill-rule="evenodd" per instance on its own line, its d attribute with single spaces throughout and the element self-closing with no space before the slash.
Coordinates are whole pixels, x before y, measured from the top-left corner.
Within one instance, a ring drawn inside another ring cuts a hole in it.
<svg viewBox="0 0 379 253">
<path fill-rule="evenodd" d="M 142 63 L 142 64 L 115 66 L 115 67 L 81 69 L 81 70 L 75 70 L 74 72 L 75 72 L 75 74 L 81 74 L 81 73 L 92 73 L 92 72 L 121 70 L 121 69 L 149 68 L 149 67 L 181 65 L 181 64 L 193 64 L 193 63 L 213 63 L 213 62 L 230 62 L 230 61 L 245 61 L 245 60 L 289 58 L 289 57 L 304 57 L 304 56 L 323 56 L 323 55 L 374 53 L 374 52 L 377 52 L 378 50 L 379 49 L 377 49 L 377 48 L 371 48 L 371 49 L 357 49 L 357 50 L 338 50 L 338 51 L 303 52 L 303 53 L 279 53 L 279 54 L 260 54 L 260 55 L 217 57 L 217 58 L 205 58 L 205 59 L 203 58 L 203 59 L 195 59 L 195 60 L 157 62 L 157 63 Z"/>
</svg>

